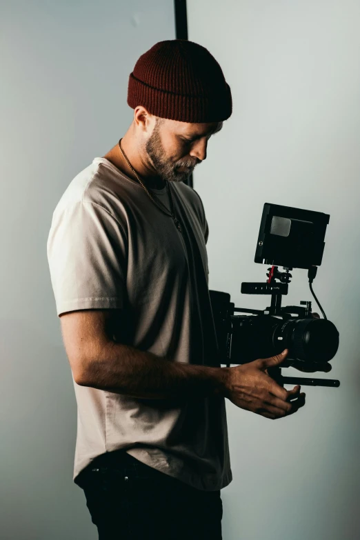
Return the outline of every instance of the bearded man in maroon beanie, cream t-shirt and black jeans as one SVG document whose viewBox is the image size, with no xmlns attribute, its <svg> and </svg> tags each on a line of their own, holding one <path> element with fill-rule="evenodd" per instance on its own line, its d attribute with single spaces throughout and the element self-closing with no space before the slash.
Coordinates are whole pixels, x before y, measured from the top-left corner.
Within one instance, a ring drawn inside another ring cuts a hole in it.
<svg viewBox="0 0 360 540">
<path fill-rule="evenodd" d="M 103 540 L 219 540 L 225 397 L 276 419 L 304 394 L 266 372 L 286 352 L 232 368 L 217 357 L 208 223 L 183 181 L 232 112 L 219 63 L 197 43 L 157 43 L 128 104 L 128 132 L 72 180 L 48 237 L 78 406 L 74 482 Z"/>
</svg>

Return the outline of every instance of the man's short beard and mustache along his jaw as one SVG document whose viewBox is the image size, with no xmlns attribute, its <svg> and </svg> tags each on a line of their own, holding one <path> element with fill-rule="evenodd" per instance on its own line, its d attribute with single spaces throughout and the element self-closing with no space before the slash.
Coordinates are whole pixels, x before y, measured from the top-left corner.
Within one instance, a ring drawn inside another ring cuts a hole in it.
<svg viewBox="0 0 360 540">
<path fill-rule="evenodd" d="M 199 160 L 194 159 L 179 159 L 178 161 L 172 162 L 165 157 L 165 152 L 163 150 L 163 145 L 161 144 L 159 126 L 156 125 L 152 131 L 150 139 L 146 143 L 146 152 L 150 157 L 152 166 L 159 174 L 163 180 L 168 180 L 169 182 L 183 182 L 188 179 L 194 167 L 199 163 Z M 180 171 L 178 170 L 181 167 L 186 167 L 187 170 Z"/>
</svg>

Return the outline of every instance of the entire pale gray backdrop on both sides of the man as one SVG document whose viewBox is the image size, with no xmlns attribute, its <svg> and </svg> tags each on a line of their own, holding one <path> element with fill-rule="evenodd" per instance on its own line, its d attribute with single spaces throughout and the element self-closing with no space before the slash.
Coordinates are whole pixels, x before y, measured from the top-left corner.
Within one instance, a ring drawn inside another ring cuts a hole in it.
<svg viewBox="0 0 360 540">
<path fill-rule="evenodd" d="M 132 118 L 128 74 L 174 38 L 171 0 L 0 2 L 1 539 L 97 538 L 72 483 L 76 401 L 46 260 L 52 211 L 71 179 Z M 265 201 L 331 215 L 314 291 L 341 346 L 306 407 L 276 422 L 227 402 L 234 480 L 224 540 L 359 536 L 358 1 L 188 0 L 234 114 L 194 175 L 210 224 L 210 287 L 243 307 Z M 294 270 L 287 303 L 311 300 Z M 315 306 L 314 306 L 315 307 Z M 301 376 L 299 372 L 287 370 Z M 306 387 L 303 387 L 306 388 Z"/>
</svg>

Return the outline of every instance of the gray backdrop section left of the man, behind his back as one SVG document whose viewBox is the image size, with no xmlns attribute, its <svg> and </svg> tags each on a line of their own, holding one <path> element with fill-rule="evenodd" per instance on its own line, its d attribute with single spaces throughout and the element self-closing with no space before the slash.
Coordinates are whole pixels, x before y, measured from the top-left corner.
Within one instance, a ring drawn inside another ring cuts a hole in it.
<svg viewBox="0 0 360 540">
<path fill-rule="evenodd" d="M 134 63 L 172 0 L 0 1 L 1 540 L 94 540 L 46 241 L 72 178 L 126 132 Z"/>
</svg>

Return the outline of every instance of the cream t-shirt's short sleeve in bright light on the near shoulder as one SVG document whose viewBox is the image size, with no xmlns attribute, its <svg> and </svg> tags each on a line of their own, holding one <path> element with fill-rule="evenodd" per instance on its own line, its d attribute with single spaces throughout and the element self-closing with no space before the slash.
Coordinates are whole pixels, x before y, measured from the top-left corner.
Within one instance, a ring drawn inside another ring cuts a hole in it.
<svg viewBox="0 0 360 540">
<path fill-rule="evenodd" d="M 60 314 L 123 308 L 128 241 L 123 226 L 97 203 L 76 201 L 55 210 L 47 252 Z"/>
</svg>

